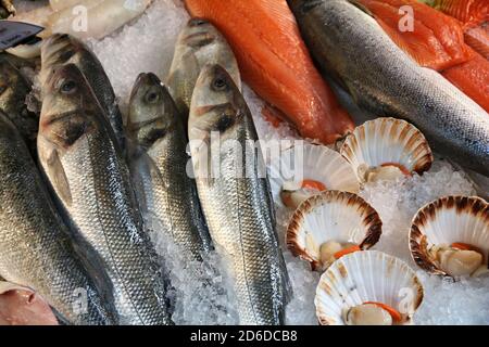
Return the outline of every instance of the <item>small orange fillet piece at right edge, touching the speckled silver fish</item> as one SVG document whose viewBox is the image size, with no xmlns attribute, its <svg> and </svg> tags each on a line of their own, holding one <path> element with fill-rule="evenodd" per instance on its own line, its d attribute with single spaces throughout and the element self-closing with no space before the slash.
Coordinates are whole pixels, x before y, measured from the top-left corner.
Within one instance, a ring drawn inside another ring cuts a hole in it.
<svg viewBox="0 0 489 347">
<path fill-rule="evenodd" d="M 489 61 L 472 52 L 473 59 L 441 74 L 467 97 L 489 112 Z"/>
</svg>

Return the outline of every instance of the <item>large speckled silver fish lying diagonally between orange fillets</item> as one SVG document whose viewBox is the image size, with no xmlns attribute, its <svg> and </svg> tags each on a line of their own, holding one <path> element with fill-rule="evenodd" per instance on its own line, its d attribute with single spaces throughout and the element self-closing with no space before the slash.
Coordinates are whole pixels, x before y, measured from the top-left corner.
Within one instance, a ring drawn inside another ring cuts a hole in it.
<svg viewBox="0 0 489 347">
<path fill-rule="evenodd" d="M 288 0 L 323 68 L 377 116 L 405 118 L 435 150 L 489 175 L 489 115 L 441 75 L 421 67 L 348 0 Z"/>
</svg>

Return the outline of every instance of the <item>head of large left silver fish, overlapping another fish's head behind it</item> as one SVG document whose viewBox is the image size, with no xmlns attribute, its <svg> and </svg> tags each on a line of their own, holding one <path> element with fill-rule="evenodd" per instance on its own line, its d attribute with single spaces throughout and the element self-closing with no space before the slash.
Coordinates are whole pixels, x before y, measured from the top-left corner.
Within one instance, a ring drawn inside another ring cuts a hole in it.
<svg viewBox="0 0 489 347">
<path fill-rule="evenodd" d="M 66 150 L 102 126 L 103 112 L 75 65 L 53 67 L 50 78 L 42 85 L 42 94 L 38 145 L 47 141 L 58 150 Z"/>
</svg>

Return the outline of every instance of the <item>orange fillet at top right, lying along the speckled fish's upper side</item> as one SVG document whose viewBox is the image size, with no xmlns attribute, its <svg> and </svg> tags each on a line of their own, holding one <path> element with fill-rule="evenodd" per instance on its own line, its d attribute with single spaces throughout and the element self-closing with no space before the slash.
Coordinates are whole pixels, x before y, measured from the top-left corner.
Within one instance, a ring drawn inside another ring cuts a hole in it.
<svg viewBox="0 0 489 347">
<path fill-rule="evenodd" d="M 442 70 L 471 59 L 459 21 L 414 0 L 359 0 L 390 38 L 419 65 Z M 406 13 L 413 10 L 412 28 L 404 27 Z M 401 25 L 402 24 L 402 25 Z"/>
</svg>

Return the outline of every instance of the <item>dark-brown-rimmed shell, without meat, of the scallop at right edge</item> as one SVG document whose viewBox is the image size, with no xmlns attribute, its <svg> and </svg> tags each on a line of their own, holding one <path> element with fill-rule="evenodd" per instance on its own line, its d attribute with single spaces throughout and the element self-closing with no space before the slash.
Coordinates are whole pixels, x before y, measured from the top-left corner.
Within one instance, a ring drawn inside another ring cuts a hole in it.
<svg viewBox="0 0 489 347">
<path fill-rule="evenodd" d="M 425 271 L 447 275 L 429 255 L 432 245 L 455 242 L 476 246 L 489 257 L 489 204 L 477 196 L 446 196 L 422 207 L 410 231 L 414 261 Z"/>
</svg>

